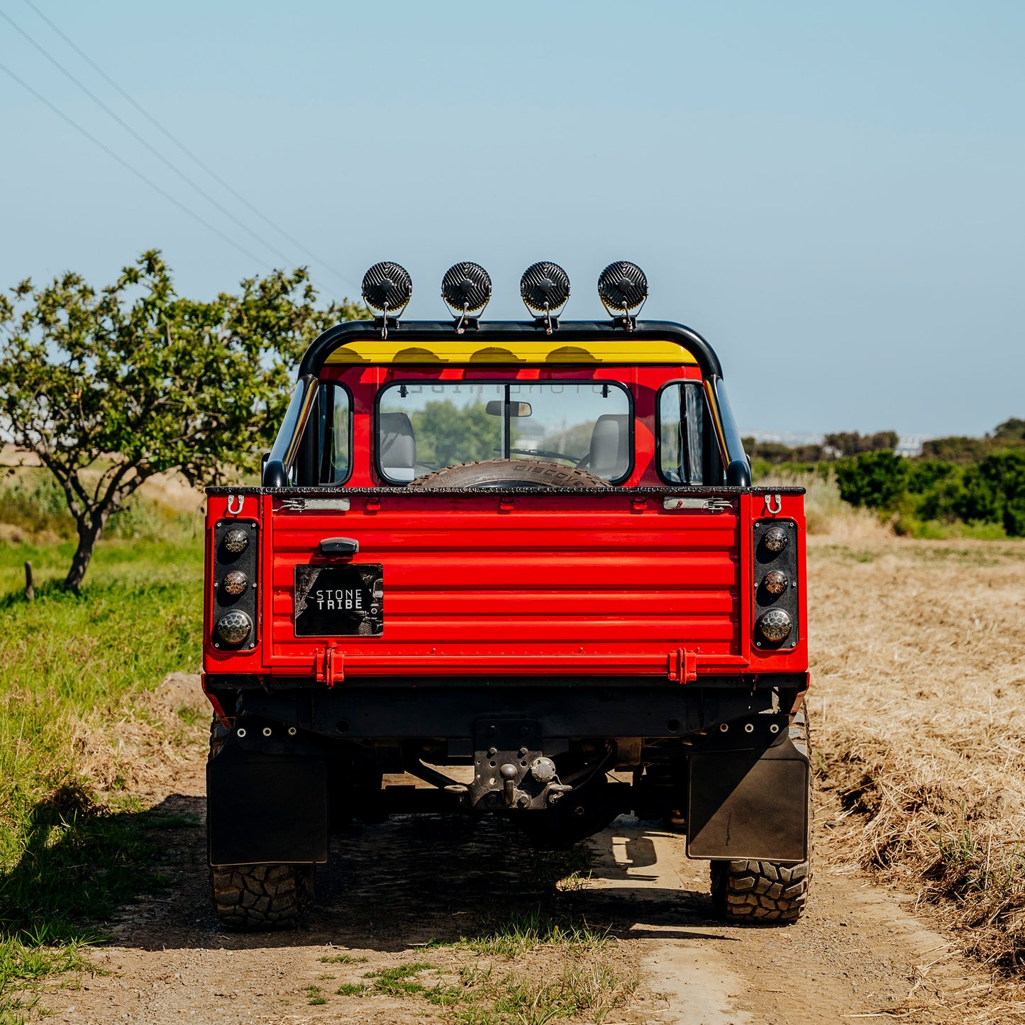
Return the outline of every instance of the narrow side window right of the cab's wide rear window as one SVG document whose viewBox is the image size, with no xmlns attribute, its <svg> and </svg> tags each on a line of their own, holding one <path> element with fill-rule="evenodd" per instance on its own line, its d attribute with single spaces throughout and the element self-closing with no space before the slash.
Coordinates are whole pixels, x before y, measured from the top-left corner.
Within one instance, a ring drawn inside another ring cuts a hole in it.
<svg viewBox="0 0 1025 1025">
<path fill-rule="evenodd" d="M 698 381 L 673 381 L 659 393 L 658 474 L 667 484 L 723 483 L 723 460 Z"/>
</svg>

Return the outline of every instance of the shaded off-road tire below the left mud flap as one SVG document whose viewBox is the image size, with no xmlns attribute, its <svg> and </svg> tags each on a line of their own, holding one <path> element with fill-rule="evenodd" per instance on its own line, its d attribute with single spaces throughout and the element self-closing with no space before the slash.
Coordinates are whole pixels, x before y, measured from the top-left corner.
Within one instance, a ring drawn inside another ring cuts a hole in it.
<svg viewBox="0 0 1025 1025">
<path fill-rule="evenodd" d="M 210 869 L 221 926 L 232 930 L 297 929 L 310 907 L 308 865 L 223 865 Z"/>
</svg>

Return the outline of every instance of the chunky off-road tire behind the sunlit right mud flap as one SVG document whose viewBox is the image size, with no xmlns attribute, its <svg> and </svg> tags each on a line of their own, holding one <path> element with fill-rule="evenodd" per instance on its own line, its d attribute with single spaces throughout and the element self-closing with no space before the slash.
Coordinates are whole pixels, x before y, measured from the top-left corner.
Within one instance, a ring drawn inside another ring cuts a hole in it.
<svg viewBox="0 0 1025 1025">
<path fill-rule="evenodd" d="M 802 707 L 790 724 L 793 746 L 811 757 L 808 716 Z M 713 861 L 711 900 L 715 915 L 725 921 L 796 921 L 808 902 L 812 877 L 812 794 L 808 788 L 808 861 Z"/>
</svg>

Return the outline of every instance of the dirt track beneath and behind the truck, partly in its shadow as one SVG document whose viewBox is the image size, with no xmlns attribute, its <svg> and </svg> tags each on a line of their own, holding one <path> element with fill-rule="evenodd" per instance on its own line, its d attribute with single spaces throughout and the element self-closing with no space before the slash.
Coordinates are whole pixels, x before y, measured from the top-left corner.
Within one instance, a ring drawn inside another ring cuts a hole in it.
<svg viewBox="0 0 1025 1025">
<path fill-rule="evenodd" d="M 467 1009 L 427 995 L 496 968 L 514 972 L 505 990 L 526 975 L 561 971 L 567 948 L 558 942 L 512 957 L 456 942 L 501 936 L 510 919 L 532 918 L 608 931 L 601 971 L 618 995 L 572 1019 L 581 1022 L 942 1022 L 953 1020 L 944 1004 L 957 990 L 985 985 L 896 899 L 832 870 L 824 824 L 811 910 L 791 927 L 715 922 L 706 866 L 687 861 L 681 837 L 653 823 L 621 818 L 597 836 L 585 879 L 572 874 L 579 855 L 532 856 L 498 820 L 437 817 L 356 825 L 338 836 L 308 931 L 225 934 L 206 890 L 201 753 L 182 770 L 160 805 L 191 823 L 165 834 L 160 868 L 173 884 L 113 924 L 116 942 L 94 955 L 108 974 L 45 995 L 53 1020 L 539 1023 L 547 1020 L 542 1006 L 503 1018 L 499 998 Z M 393 977 L 406 982 L 382 985 Z"/>
</svg>

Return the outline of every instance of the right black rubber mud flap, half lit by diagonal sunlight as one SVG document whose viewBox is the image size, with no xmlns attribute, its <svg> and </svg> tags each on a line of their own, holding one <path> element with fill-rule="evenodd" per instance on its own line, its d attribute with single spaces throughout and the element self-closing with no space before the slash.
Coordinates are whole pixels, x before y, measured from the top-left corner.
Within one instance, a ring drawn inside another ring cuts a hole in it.
<svg viewBox="0 0 1025 1025">
<path fill-rule="evenodd" d="M 808 858 L 811 769 L 789 738 L 761 752 L 696 753 L 690 769 L 688 858 Z"/>
</svg>

